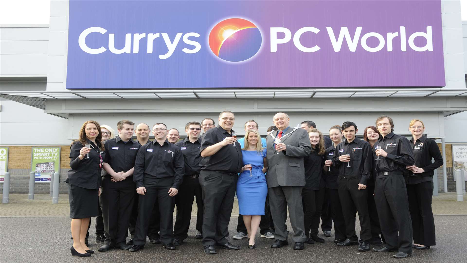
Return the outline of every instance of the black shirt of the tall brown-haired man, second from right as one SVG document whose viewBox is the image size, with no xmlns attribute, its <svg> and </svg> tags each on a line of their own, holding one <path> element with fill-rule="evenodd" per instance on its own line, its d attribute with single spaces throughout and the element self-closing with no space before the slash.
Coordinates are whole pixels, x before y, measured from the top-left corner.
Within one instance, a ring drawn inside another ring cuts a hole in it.
<svg viewBox="0 0 467 263">
<path fill-rule="evenodd" d="M 376 161 L 376 173 L 401 172 L 406 173 L 408 165 L 414 164 L 412 147 L 409 141 L 400 135 L 390 132 L 385 137 L 380 136 L 373 147 L 381 146 L 388 155 L 380 156 Z"/>
</svg>

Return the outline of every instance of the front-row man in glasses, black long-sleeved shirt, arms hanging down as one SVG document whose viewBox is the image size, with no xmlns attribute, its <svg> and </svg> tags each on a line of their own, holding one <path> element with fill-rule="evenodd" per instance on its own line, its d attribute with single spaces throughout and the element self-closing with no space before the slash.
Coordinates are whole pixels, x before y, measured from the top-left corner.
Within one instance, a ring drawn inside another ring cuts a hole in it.
<svg viewBox="0 0 467 263">
<path fill-rule="evenodd" d="M 138 251 L 146 244 L 149 219 L 154 204 L 159 204 L 161 215 L 161 242 L 166 249 L 173 245 L 173 212 L 175 196 L 183 182 L 184 159 L 180 148 L 167 140 L 167 126 L 156 123 L 152 133 L 154 141 L 140 147 L 134 163 L 134 182 L 139 194 L 138 219 L 134 232 L 134 245 Z"/>
</svg>

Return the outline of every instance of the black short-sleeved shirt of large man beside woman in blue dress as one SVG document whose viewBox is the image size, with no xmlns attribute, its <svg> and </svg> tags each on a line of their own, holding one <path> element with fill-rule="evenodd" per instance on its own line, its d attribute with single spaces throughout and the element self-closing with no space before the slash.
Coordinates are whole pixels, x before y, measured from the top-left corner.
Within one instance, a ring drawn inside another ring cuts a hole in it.
<svg viewBox="0 0 467 263">
<path fill-rule="evenodd" d="M 231 132 L 235 132 L 231 130 Z M 203 134 L 201 139 L 201 153 L 208 146 L 212 146 L 216 143 L 221 142 L 227 137 L 232 137 L 230 133 L 224 130 L 220 125 L 216 128 L 211 128 Z M 237 147 L 233 145 L 223 146 L 217 153 L 211 156 L 201 157 L 201 170 L 207 171 L 218 171 L 225 173 L 239 173 L 242 168 L 242 155 L 240 143 L 235 143 Z"/>
</svg>

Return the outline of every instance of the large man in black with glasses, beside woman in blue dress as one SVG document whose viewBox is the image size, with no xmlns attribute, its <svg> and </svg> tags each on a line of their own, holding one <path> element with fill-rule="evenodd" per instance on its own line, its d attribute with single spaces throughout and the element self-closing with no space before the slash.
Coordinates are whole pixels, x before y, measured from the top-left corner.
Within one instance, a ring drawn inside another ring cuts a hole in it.
<svg viewBox="0 0 467 263">
<path fill-rule="evenodd" d="M 240 249 L 226 239 L 237 188 L 237 173 L 242 168 L 241 147 L 231 135 L 234 120 L 233 112 L 221 112 L 219 125 L 206 131 L 201 142 L 199 184 L 203 190 L 202 244 L 206 254 L 216 254 L 215 245 Z"/>
</svg>

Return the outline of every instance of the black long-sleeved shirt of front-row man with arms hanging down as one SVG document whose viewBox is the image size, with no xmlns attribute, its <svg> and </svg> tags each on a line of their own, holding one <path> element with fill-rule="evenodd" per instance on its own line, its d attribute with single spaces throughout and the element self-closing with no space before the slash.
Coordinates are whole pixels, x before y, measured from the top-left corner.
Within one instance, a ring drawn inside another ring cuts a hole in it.
<svg viewBox="0 0 467 263">
<path fill-rule="evenodd" d="M 138 150 L 133 172 L 137 188 L 171 186 L 179 189 L 183 175 L 184 159 L 180 147 L 167 139 L 162 146 L 154 140 Z"/>
</svg>

